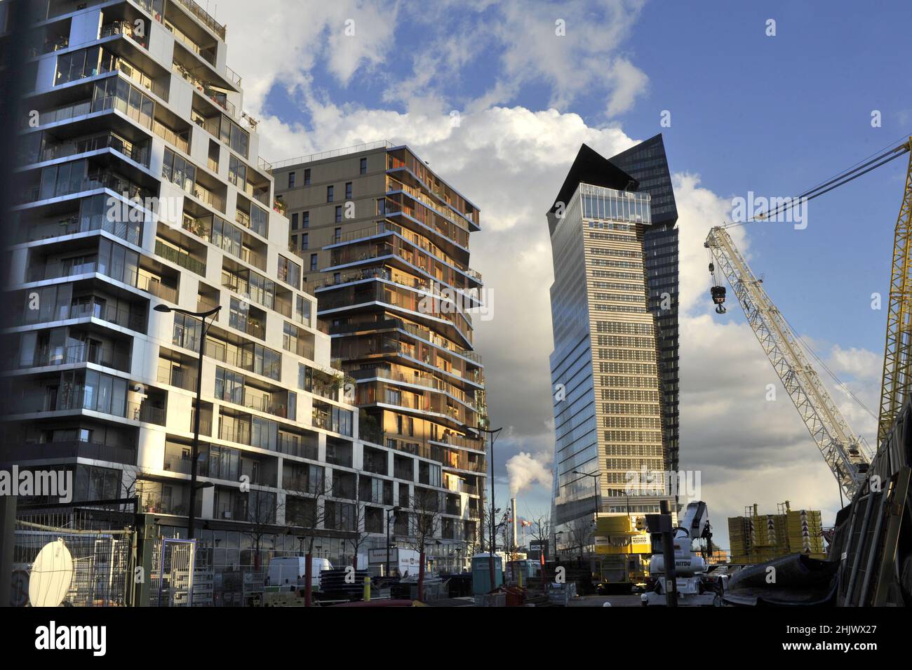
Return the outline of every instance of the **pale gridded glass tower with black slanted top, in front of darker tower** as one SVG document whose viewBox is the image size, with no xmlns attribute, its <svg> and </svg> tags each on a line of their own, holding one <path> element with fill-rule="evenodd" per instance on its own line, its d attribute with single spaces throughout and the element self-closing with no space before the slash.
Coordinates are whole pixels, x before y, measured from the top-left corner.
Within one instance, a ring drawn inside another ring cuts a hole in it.
<svg viewBox="0 0 912 670">
<path fill-rule="evenodd" d="M 559 547 L 591 544 L 596 514 L 658 512 L 668 500 L 657 316 L 644 263 L 652 200 L 638 187 L 583 145 L 547 215 Z M 641 481 L 644 472 L 658 480 Z"/>
</svg>

